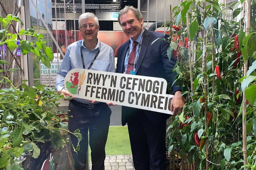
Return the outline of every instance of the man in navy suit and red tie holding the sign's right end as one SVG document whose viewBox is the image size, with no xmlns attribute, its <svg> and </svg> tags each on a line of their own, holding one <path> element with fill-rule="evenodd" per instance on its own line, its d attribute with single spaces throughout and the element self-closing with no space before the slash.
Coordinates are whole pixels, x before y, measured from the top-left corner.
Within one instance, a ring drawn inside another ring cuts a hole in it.
<svg viewBox="0 0 256 170">
<path fill-rule="evenodd" d="M 127 65 L 133 65 L 130 74 L 164 78 L 173 84 L 176 74 L 173 68 L 176 58 L 167 57 L 168 35 L 143 28 L 143 17 L 133 6 L 125 6 L 118 15 L 118 22 L 130 38 L 117 51 L 116 72 L 126 73 Z M 158 40 L 156 40 L 159 38 Z M 155 41 L 156 40 L 156 41 Z M 134 63 L 129 63 L 133 41 L 137 41 Z M 155 41 L 153 43 L 153 41 Z M 153 43 L 153 44 L 152 44 Z M 181 88 L 172 86 L 175 94 L 171 102 L 173 115 L 182 112 L 185 104 Z M 133 164 L 136 170 L 166 170 L 166 119 L 169 114 L 122 106 L 122 124 L 128 125 Z"/>
</svg>

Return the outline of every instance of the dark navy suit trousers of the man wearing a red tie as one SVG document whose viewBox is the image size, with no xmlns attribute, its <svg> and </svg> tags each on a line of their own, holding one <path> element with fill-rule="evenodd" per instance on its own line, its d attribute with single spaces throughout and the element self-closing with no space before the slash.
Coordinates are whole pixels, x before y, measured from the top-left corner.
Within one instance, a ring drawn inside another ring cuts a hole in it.
<svg viewBox="0 0 256 170">
<path fill-rule="evenodd" d="M 127 125 L 135 170 L 166 170 L 166 120 L 153 123 L 136 109 Z"/>
</svg>

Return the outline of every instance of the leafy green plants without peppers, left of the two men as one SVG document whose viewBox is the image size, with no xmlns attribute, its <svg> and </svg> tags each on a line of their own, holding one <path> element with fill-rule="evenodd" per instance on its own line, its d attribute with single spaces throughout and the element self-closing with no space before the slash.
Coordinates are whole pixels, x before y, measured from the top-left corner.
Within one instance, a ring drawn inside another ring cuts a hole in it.
<svg viewBox="0 0 256 170">
<path fill-rule="evenodd" d="M 0 45 L 6 45 L 6 50 L 14 51 L 17 48 L 23 55 L 28 52 L 33 53 L 50 67 L 53 60 L 53 53 L 43 41 L 43 35 L 35 34 L 33 29 L 23 30 L 12 34 L 6 29 L 12 22 L 22 21 L 15 16 L 7 15 L 6 18 L 0 17 L 3 30 L 0 31 Z M 33 40 L 17 40 L 20 35 L 34 37 Z M 19 45 L 17 45 L 19 41 Z M 8 65 L 5 61 L 1 64 Z M 10 69 L 8 71 L 16 71 Z M 4 72 L 3 69 L 0 69 Z M 29 87 L 23 80 L 14 86 L 9 76 L 1 76 L 0 84 L 5 84 L 9 88 L 0 89 L 0 169 L 22 169 L 21 162 L 23 155 L 30 153 L 33 158 L 40 154 L 40 143 L 50 142 L 50 147 L 62 151 L 64 146 L 69 144 L 74 151 L 79 150 L 79 143 L 76 148 L 69 143 L 67 138 L 63 138 L 60 130 L 75 135 L 81 140 L 81 134 L 77 129 L 75 132 L 67 130 L 67 124 L 63 123 L 57 116 L 59 99 L 63 96 L 58 94 L 55 89 L 39 85 Z"/>
</svg>

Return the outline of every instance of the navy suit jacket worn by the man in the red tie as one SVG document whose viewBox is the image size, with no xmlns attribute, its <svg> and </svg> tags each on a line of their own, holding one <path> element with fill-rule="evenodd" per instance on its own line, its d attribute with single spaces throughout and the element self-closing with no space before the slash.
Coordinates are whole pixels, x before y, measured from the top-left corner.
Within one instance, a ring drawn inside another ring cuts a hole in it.
<svg viewBox="0 0 256 170">
<path fill-rule="evenodd" d="M 177 59 L 172 57 L 171 60 L 169 60 L 169 58 L 167 57 L 167 48 L 169 47 L 169 43 L 162 40 L 162 38 L 167 37 L 169 36 L 163 33 L 148 31 L 146 29 L 144 30 L 141 49 L 135 70 L 136 75 L 164 78 L 167 82 L 170 82 L 171 84 L 174 82 L 176 73 L 173 72 L 173 68 L 177 62 Z M 156 40 L 157 38 L 159 39 Z M 122 46 L 119 47 L 117 51 L 117 73 L 124 73 L 124 61 L 129 41 L 130 40 L 126 41 Z M 153 41 L 155 42 L 151 44 Z M 172 91 L 175 92 L 177 90 L 181 90 L 181 88 L 173 85 Z M 143 111 L 152 122 L 158 122 L 162 119 L 166 120 L 170 117 L 169 114 L 163 114 L 158 112 L 156 113 L 148 110 Z M 126 106 L 122 107 L 123 125 L 127 123 L 127 117 L 132 112 L 136 112 L 136 109 Z"/>
</svg>

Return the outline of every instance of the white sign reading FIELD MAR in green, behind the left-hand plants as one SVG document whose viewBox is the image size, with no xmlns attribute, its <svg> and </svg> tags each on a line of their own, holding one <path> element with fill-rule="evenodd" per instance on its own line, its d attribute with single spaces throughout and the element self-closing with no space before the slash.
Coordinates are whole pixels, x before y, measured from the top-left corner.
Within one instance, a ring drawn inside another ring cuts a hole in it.
<svg viewBox="0 0 256 170">
<path fill-rule="evenodd" d="M 59 62 L 58 62 L 59 61 Z M 46 86 L 55 86 L 56 76 L 62 60 L 53 60 L 51 63 L 51 67 L 46 67 L 40 61 L 40 75 L 41 75 L 41 84 L 45 84 Z"/>
</svg>

